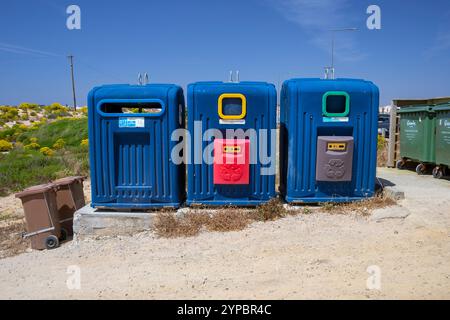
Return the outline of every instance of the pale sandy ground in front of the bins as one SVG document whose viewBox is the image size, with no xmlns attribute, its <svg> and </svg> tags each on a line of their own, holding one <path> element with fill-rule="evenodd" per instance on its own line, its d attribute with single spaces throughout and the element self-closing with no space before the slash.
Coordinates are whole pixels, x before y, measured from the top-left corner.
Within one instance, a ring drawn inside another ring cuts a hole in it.
<svg viewBox="0 0 450 320">
<path fill-rule="evenodd" d="M 449 299 L 450 181 L 379 176 L 406 193 L 381 210 L 407 218 L 318 212 L 195 238 L 72 242 L 0 260 L 0 298 Z M 79 289 L 68 270 L 80 271 Z"/>
</svg>

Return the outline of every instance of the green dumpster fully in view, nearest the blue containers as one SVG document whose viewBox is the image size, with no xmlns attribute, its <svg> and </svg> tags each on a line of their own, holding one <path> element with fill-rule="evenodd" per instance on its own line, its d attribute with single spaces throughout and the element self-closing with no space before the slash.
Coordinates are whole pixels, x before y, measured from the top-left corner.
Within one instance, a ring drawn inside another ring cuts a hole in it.
<svg viewBox="0 0 450 320">
<path fill-rule="evenodd" d="M 397 168 L 407 161 L 418 162 L 416 172 L 424 174 L 435 163 L 436 118 L 432 106 L 403 107 L 400 114 L 400 157 Z"/>
</svg>

